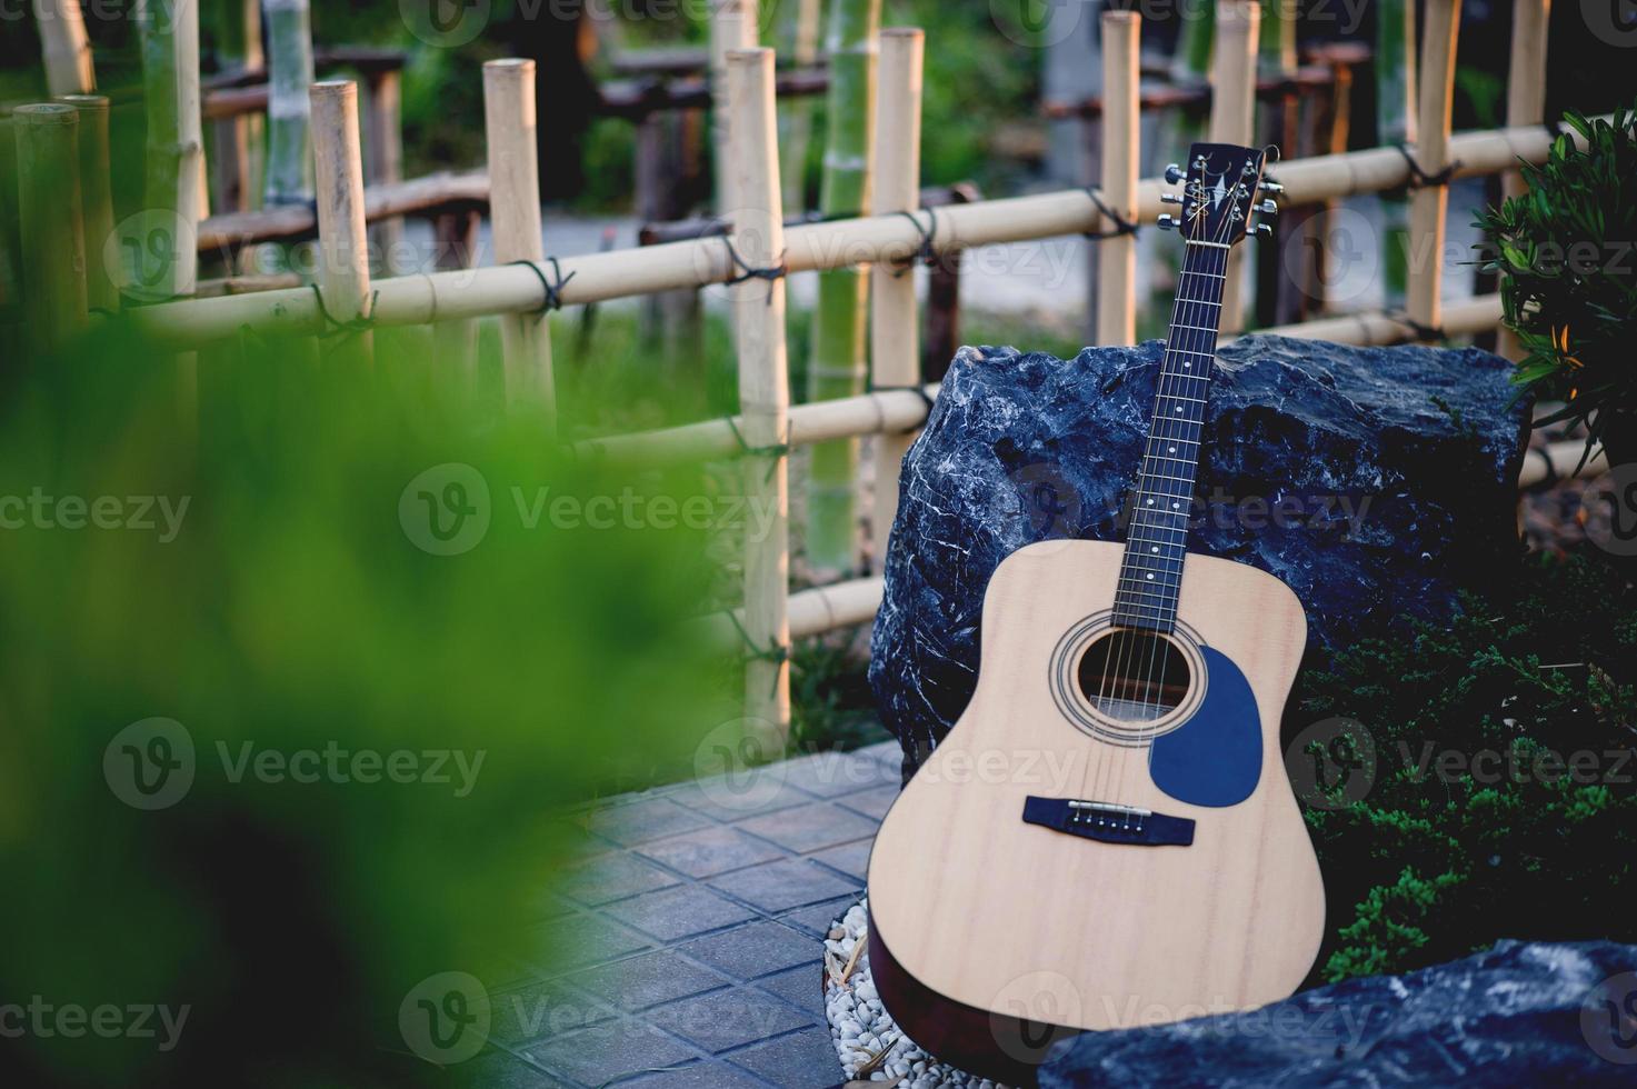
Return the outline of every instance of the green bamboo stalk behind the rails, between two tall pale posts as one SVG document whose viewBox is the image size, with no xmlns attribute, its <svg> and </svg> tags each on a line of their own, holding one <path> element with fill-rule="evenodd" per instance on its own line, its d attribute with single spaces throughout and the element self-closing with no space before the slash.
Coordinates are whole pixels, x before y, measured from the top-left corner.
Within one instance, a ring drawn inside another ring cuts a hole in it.
<svg viewBox="0 0 1637 1089">
<path fill-rule="evenodd" d="M 832 0 L 825 100 L 827 146 L 818 211 L 869 215 L 874 144 L 876 46 L 881 0 Z M 869 373 L 866 352 L 869 273 L 833 269 L 818 273 L 807 393 L 814 401 L 856 396 Z M 850 573 L 858 563 L 858 439 L 812 447 L 807 478 L 807 562 L 822 572 Z"/>
</svg>

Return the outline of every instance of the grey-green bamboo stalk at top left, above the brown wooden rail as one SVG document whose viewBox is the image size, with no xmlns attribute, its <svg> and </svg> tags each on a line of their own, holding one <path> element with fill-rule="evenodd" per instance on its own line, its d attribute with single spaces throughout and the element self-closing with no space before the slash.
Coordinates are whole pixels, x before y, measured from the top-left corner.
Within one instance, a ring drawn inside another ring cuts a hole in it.
<svg viewBox="0 0 1637 1089">
<path fill-rule="evenodd" d="M 308 0 L 267 0 L 267 206 L 313 200 Z"/>
</svg>

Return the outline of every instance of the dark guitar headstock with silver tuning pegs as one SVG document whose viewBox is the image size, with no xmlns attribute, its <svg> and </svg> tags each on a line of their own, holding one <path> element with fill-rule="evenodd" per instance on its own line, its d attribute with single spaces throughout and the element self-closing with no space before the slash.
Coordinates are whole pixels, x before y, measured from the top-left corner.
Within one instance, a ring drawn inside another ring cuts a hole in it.
<svg viewBox="0 0 1637 1089">
<path fill-rule="evenodd" d="M 1166 180 L 1182 182 L 1182 195 L 1164 193 L 1161 200 L 1182 205 L 1182 218 L 1161 216 L 1159 226 L 1177 229 L 1188 242 L 1236 246 L 1252 228 L 1272 234 L 1270 221 L 1278 205 L 1270 197 L 1283 187 L 1262 178 L 1267 164 L 1278 159 L 1277 147 L 1238 147 L 1234 144 L 1195 144 L 1188 149 L 1188 169 L 1166 167 Z"/>
</svg>

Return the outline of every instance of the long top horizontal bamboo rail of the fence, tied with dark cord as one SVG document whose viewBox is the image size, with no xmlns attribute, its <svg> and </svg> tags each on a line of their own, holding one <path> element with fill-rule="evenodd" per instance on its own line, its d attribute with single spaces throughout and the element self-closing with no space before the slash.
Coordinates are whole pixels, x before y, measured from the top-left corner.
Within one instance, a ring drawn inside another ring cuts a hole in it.
<svg viewBox="0 0 1637 1089">
<path fill-rule="evenodd" d="M 1581 146 L 1578 136 L 1573 136 Z M 1550 138 L 1540 126 L 1462 133 L 1450 139 L 1459 160 L 1455 177 L 1481 177 L 1509 170 L 1517 159 L 1545 160 Z M 1278 165 L 1288 203 L 1318 203 L 1359 193 L 1378 193 L 1409 178 L 1403 156 L 1390 147 L 1319 156 Z M 1166 205 L 1164 183 L 1138 183 L 1141 218 Z M 1082 234 L 1108 226 L 1084 190 L 1038 193 L 951 205 L 938 213 L 938 252 L 999 242 Z M 791 272 L 837 269 L 846 264 L 891 260 L 913 252 L 920 231 L 902 216 L 868 216 L 791 228 L 786 233 L 786 265 Z M 720 237 L 701 237 L 638 249 L 565 257 L 561 290 L 565 306 L 601 303 L 634 295 L 724 283 L 737 275 Z M 377 324 L 426 324 L 429 321 L 483 318 L 539 310 L 540 280 L 527 269 L 501 265 L 470 272 L 437 272 L 396 277 L 375 283 L 380 291 Z M 322 316 L 311 291 L 264 291 L 231 298 L 144 306 L 133 319 L 157 342 L 198 346 L 252 329 L 267 336 L 313 336 Z"/>
</svg>

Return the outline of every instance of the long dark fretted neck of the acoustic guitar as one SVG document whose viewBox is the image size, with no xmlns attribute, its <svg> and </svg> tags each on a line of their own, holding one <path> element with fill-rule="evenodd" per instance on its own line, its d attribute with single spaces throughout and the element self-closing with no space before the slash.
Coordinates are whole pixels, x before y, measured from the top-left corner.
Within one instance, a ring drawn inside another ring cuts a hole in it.
<svg viewBox="0 0 1637 1089">
<path fill-rule="evenodd" d="M 1177 621 L 1228 252 L 1221 242 L 1190 241 L 1182 259 L 1115 591 L 1116 624 L 1169 632 Z"/>
</svg>

